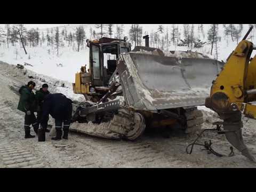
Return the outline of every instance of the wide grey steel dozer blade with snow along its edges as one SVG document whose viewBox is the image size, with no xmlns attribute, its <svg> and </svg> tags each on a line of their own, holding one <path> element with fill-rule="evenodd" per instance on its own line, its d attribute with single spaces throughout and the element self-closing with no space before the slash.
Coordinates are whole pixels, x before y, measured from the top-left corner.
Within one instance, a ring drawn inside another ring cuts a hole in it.
<svg viewBox="0 0 256 192">
<path fill-rule="evenodd" d="M 117 70 L 127 105 L 158 110 L 204 105 L 221 67 L 213 59 L 130 52 L 121 55 Z"/>
</svg>

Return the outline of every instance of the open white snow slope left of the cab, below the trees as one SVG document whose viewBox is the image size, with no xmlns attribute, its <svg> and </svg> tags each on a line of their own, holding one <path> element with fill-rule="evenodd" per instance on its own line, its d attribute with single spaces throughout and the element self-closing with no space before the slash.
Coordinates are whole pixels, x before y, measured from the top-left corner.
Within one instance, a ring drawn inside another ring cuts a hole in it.
<svg viewBox="0 0 256 192">
<path fill-rule="evenodd" d="M 50 49 L 50 54 L 48 51 Z M 29 63 L 31 66 L 25 68 L 34 71 L 37 74 L 44 74 L 50 77 L 75 82 L 75 74 L 80 71 L 81 66 L 89 67 L 89 48 L 85 48 L 79 52 L 72 49 L 72 47 L 62 47 L 59 55 L 51 51 L 51 47 L 26 47 L 28 54 L 23 50 L 19 50 L 18 59 L 16 60 L 14 54 L 15 47 L 10 46 L 9 50 L 0 47 L 0 60 L 17 65 Z M 29 59 L 30 57 L 30 59 Z M 62 64 L 63 67 L 58 67 L 57 64 Z"/>
</svg>

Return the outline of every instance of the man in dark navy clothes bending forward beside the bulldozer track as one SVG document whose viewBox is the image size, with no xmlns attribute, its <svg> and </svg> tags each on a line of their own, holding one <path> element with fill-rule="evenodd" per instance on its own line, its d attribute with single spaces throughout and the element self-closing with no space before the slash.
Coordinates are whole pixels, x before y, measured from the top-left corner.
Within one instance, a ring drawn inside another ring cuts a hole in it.
<svg viewBox="0 0 256 192">
<path fill-rule="evenodd" d="M 55 118 L 56 137 L 52 140 L 60 140 L 62 135 L 62 123 L 63 123 L 63 139 L 68 139 L 68 130 L 72 117 L 72 101 L 61 93 L 46 95 L 43 102 L 43 111 L 41 124 L 44 126 L 47 124 L 47 116 L 51 115 Z"/>
</svg>

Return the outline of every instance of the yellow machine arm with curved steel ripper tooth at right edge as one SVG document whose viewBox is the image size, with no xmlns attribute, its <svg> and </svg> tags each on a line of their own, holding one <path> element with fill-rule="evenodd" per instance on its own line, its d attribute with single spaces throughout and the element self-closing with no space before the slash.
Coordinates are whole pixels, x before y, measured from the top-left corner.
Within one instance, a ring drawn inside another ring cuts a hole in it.
<svg viewBox="0 0 256 192">
<path fill-rule="evenodd" d="M 256 119 L 256 49 L 246 38 L 253 27 L 247 31 L 236 49 L 229 55 L 217 78 L 212 82 L 210 97 L 206 98 L 205 106 L 218 113 L 223 122 L 223 131 L 227 140 L 242 155 L 256 162 L 246 147 L 242 130 L 242 114 Z"/>
</svg>

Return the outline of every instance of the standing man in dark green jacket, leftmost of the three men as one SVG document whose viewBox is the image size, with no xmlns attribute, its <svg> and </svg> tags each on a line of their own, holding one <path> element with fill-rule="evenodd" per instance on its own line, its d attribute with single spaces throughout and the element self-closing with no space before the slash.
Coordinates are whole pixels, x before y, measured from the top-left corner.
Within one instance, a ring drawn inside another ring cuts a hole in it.
<svg viewBox="0 0 256 192">
<path fill-rule="evenodd" d="M 38 125 L 36 122 L 36 116 L 34 112 L 36 111 L 36 100 L 35 94 L 33 93 L 33 89 L 35 88 L 36 84 L 33 81 L 28 82 L 27 85 L 21 86 L 19 89 L 20 93 L 20 100 L 18 109 L 25 113 L 25 139 L 27 138 L 34 138 L 35 135 L 30 135 L 30 125 L 32 124 L 34 131 L 37 133 Z"/>
</svg>

